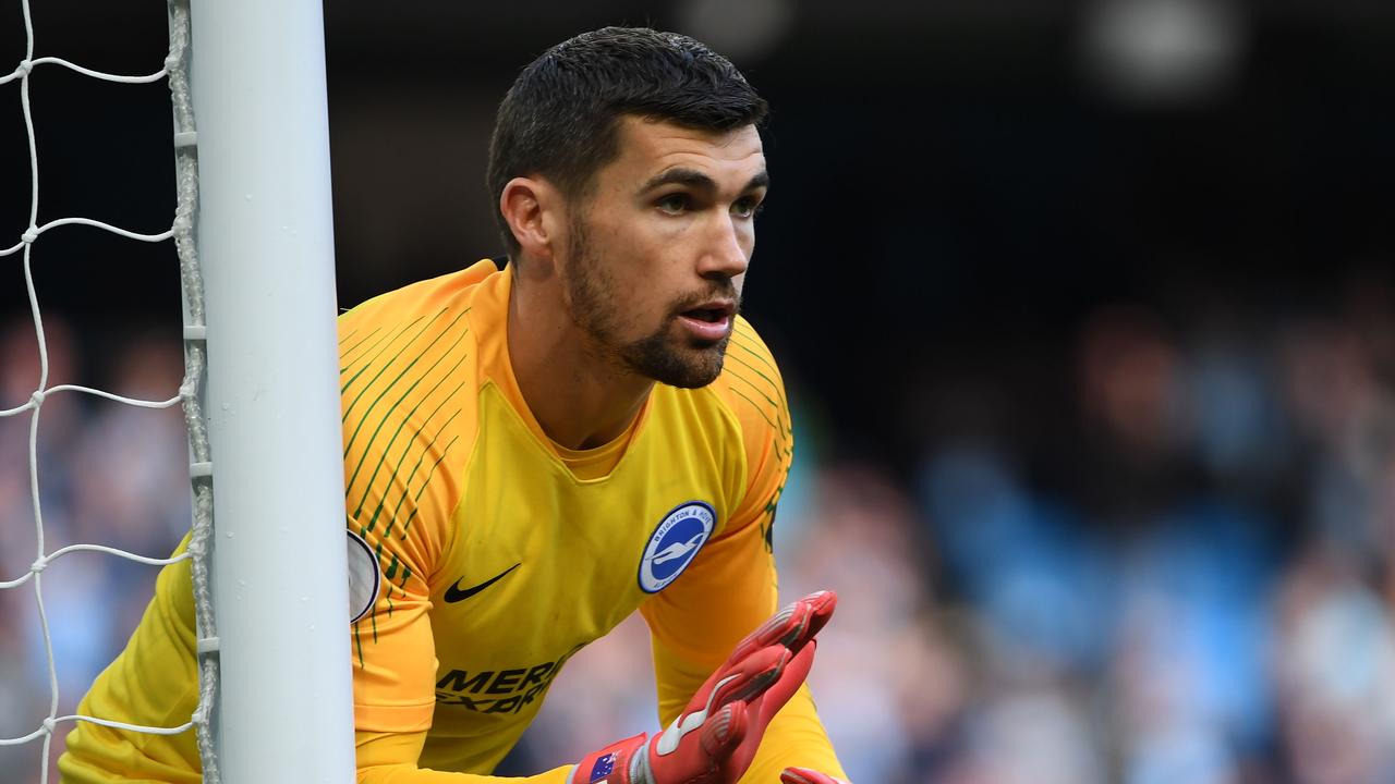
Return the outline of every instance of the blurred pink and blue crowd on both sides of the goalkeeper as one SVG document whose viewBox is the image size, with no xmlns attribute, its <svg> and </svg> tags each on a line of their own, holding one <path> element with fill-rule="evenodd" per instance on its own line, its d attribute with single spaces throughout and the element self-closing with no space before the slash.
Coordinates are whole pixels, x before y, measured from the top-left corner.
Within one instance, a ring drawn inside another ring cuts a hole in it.
<svg viewBox="0 0 1395 784">
<path fill-rule="evenodd" d="M 50 385 L 179 385 L 172 331 L 84 347 L 61 318 L 46 328 Z M 840 594 L 810 681 L 852 780 L 1395 781 L 1388 278 L 1304 310 L 1101 303 L 1067 332 L 1034 384 L 965 371 L 907 388 L 939 423 L 910 466 L 840 452 L 816 378 L 785 368 L 798 448 L 781 594 Z M 36 379 L 17 319 L 0 409 Z M 167 554 L 188 520 L 177 410 L 59 393 L 38 432 L 46 551 Z M 28 442 L 28 414 L 0 419 L 0 579 L 36 552 Z M 60 714 L 124 643 L 153 573 L 89 554 L 43 572 Z M 49 713 L 47 661 L 33 585 L 0 590 L 0 738 Z M 651 730 L 651 684 L 632 618 L 569 663 L 501 773 Z M 39 755 L 0 748 L 0 783 L 36 780 Z"/>
</svg>

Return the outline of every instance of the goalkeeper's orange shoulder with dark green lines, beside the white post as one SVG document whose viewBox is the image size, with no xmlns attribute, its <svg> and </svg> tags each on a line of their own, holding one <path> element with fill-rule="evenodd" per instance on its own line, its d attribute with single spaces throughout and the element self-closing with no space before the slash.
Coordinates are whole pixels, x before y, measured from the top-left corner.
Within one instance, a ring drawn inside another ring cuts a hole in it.
<svg viewBox="0 0 1395 784">
<path fill-rule="evenodd" d="M 456 469 L 478 431 L 473 311 L 490 310 L 478 307 L 477 293 L 495 273 L 485 259 L 374 297 L 339 319 L 346 509 L 370 541 L 375 532 L 410 530 L 430 543 L 413 554 L 416 569 L 451 536 Z M 382 550 L 389 555 L 407 562 Z M 382 564 L 389 580 L 392 564 Z"/>
</svg>

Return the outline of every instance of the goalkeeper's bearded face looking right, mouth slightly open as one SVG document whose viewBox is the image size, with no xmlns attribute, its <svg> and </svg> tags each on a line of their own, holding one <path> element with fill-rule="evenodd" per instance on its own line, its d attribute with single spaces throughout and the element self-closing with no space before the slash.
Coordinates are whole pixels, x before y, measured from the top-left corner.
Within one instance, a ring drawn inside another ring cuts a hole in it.
<svg viewBox="0 0 1395 784">
<path fill-rule="evenodd" d="M 565 304 L 590 347 L 674 386 L 721 371 L 767 187 L 755 127 L 621 120 L 619 156 L 573 205 Z"/>
</svg>

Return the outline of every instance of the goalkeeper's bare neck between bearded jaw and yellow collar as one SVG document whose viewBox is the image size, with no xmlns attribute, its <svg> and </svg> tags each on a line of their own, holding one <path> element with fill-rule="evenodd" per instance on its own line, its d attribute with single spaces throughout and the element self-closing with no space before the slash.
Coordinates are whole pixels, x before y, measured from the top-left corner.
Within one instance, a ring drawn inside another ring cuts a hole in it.
<svg viewBox="0 0 1395 784">
<path fill-rule="evenodd" d="M 527 279 L 513 266 L 508 350 L 523 402 L 568 449 L 610 444 L 629 427 L 654 382 L 597 356 L 561 307 L 557 276 Z"/>
</svg>

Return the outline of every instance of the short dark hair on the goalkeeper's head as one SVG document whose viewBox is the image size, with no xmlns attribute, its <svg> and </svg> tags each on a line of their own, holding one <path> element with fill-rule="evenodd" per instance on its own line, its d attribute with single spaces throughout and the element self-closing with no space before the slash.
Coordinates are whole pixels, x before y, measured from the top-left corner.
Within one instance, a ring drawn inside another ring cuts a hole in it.
<svg viewBox="0 0 1395 784">
<path fill-rule="evenodd" d="M 685 35 L 608 27 L 548 49 L 513 81 L 490 140 L 487 184 L 511 254 L 519 246 L 498 209 L 504 186 L 541 174 L 568 198 L 585 195 L 619 155 L 626 114 L 721 133 L 759 126 L 766 100 L 725 57 Z"/>
</svg>

